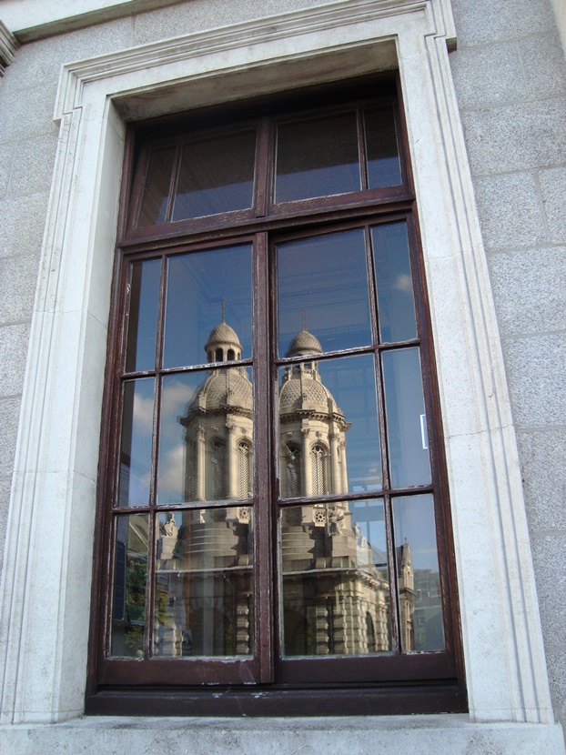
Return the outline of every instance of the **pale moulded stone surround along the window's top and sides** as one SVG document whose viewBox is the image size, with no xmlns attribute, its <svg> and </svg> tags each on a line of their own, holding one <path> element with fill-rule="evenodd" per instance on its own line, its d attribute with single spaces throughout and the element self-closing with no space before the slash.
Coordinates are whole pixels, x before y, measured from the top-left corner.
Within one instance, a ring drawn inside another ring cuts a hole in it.
<svg viewBox="0 0 566 755">
<path fill-rule="evenodd" d="M 0 596 L 3 723 L 64 721 L 83 711 L 126 120 L 286 90 L 288 82 L 398 68 L 450 483 L 470 703 L 461 726 L 522 722 L 526 735 L 524 727 L 534 724 L 529 729 L 543 738 L 541 751 L 563 752 L 497 322 L 451 83 L 454 37 L 450 0 L 349 0 L 63 66 Z"/>
</svg>

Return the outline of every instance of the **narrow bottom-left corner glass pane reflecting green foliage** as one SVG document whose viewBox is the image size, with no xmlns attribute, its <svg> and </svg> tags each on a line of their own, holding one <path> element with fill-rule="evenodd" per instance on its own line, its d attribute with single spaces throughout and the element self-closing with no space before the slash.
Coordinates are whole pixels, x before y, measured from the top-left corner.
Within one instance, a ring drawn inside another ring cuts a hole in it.
<svg viewBox="0 0 566 755">
<path fill-rule="evenodd" d="M 116 517 L 110 655 L 144 657 L 147 514 Z"/>
</svg>

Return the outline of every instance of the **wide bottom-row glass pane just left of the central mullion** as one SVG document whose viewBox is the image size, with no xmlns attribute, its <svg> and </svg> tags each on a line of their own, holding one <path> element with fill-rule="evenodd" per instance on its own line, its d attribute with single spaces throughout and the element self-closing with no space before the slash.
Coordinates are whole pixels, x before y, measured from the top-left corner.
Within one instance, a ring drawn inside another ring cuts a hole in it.
<svg viewBox="0 0 566 755">
<path fill-rule="evenodd" d="M 155 655 L 253 653 L 252 522 L 248 506 L 159 515 Z"/>
</svg>

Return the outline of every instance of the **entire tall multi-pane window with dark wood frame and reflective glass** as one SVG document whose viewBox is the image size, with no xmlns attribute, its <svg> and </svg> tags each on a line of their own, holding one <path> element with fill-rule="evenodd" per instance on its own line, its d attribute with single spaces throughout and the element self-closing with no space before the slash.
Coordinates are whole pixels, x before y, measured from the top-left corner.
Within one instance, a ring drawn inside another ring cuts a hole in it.
<svg viewBox="0 0 566 755">
<path fill-rule="evenodd" d="M 137 130 L 87 710 L 465 709 L 402 114 L 368 91 Z"/>
</svg>

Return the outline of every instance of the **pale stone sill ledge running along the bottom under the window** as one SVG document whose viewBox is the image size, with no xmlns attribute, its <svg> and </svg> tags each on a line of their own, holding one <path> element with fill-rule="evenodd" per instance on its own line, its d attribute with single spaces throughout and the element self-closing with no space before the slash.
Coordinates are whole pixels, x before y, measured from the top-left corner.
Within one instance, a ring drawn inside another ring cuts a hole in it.
<svg viewBox="0 0 566 755">
<path fill-rule="evenodd" d="M 88 718 L 0 727 L 4 755 L 558 755 L 558 724 L 471 723 L 467 715 L 339 719 Z"/>
</svg>

